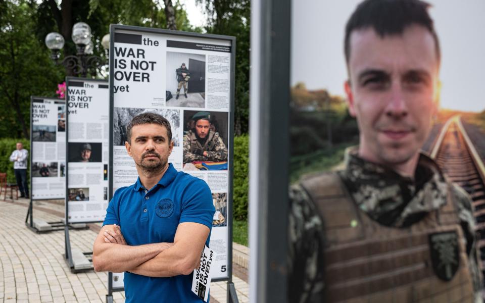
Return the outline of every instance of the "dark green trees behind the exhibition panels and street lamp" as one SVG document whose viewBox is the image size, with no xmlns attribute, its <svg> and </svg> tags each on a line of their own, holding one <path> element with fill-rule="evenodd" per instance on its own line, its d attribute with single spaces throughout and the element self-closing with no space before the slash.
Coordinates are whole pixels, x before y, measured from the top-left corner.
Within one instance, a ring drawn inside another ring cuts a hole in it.
<svg viewBox="0 0 485 303">
<path fill-rule="evenodd" d="M 248 133 L 249 0 L 193 0 L 207 16 L 191 25 L 185 6 L 172 0 L 0 0 L 0 138 L 29 138 L 30 96 L 55 96 L 57 84 L 72 71 L 56 66 L 44 45 L 47 33 L 61 33 L 63 56 L 74 55 L 72 26 L 91 27 L 94 55 L 106 58 L 101 39 L 110 24 L 171 28 L 236 37 L 235 134 Z M 173 24 L 167 20 L 174 20 Z"/>
</svg>

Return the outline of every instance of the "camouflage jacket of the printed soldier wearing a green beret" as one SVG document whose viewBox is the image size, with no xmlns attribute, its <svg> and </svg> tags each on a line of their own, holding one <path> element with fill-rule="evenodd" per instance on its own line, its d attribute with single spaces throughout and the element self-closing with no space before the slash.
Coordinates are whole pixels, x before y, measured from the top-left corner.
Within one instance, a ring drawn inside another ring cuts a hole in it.
<svg viewBox="0 0 485 303">
<path fill-rule="evenodd" d="M 196 132 L 192 130 L 189 130 L 183 136 L 183 163 L 192 161 L 227 161 L 227 147 L 218 132 L 210 131 L 203 142 L 201 143 L 197 138 Z M 204 151 L 207 151 L 207 157 L 203 155 Z"/>
</svg>

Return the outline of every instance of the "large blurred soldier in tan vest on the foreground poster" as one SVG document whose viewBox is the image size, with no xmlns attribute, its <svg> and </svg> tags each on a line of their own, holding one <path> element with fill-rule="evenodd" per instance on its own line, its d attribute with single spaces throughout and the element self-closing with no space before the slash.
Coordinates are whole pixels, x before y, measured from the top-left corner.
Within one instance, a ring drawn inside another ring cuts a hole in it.
<svg viewBox="0 0 485 303">
<path fill-rule="evenodd" d="M 481 302 L 469 196 L 420 153 L 441 53 L 428 5 L 365 0 L 346 27 L 359 146 L 290 189 L 290 302 Z"/>
</svg>

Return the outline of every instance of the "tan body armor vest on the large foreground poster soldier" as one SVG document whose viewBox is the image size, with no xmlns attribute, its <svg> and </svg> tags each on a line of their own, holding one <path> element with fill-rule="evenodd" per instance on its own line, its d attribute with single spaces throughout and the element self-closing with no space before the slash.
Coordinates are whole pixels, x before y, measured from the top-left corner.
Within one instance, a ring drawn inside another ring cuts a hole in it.
<svg viewBox="0 0 485 303">
<path fill-rule="evenodd" d="M 335 173 L 314 176 L 302 185 L 323 220 L 325 302 L 473 302 L 465 240 L 451 190 L 441 209 L 408 228 L 396 228 L 380 225 L 360 210 Z M 439 241 L 433 248 L 432 237 L 440 235 L 456 235 L 457 249 L 450 254 L 446 246 L 448 251 L 441 251 L 436 247 Z M 438 262 L 444 255 L 437 256 L 437 251 L 454 256 L 448 260 L 453 270 Z"/>
</svg>

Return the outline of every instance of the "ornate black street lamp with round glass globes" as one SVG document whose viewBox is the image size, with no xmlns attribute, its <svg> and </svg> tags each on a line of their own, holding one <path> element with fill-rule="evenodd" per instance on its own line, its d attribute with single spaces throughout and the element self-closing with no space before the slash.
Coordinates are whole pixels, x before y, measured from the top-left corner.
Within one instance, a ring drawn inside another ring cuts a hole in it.
<svg viewBox="0 0 485 303">
<path fill-rule="evenodd" d="M 84 22 L 78 22 L 72 27 L 72 40 L 76 44 L 76 55 L 66 56 L 59 61 L 61 49 L 64 47 L 64 37 L 57 32 L 52 32 L 45 36 L 45 45 L 51 49 L 51 59 L 56 65 L 64 65 L 70 69 L 76 76 L 86 77 L 89 71 L 91 74 L 101 71 L 101 67 L 106 65 L 106 61 L 99 56 L 90 56 L 93 53 L 93 44 L 91 41 L 91 28 Z M 101 45 L 108 51 L 110 46 L 110 35 L 106 34 Z"/>
</svg>

